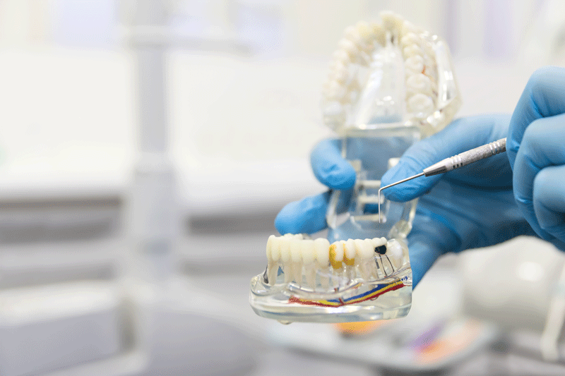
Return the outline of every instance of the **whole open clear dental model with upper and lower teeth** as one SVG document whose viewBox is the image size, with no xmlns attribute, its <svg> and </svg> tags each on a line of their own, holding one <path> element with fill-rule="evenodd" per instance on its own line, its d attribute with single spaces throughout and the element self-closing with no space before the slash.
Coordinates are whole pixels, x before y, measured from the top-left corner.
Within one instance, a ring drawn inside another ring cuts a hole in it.
<svg viewBox="0 0 565 376">
<path fill-rule="evenodd" d="M 410 310 L 406 236 L 417 200 L 383 200 L 379 223 L 376 193 L 410 145 L 451 121 L 460 98 L 445 42 L 396 14 L 383 12 L 381 19 L 345 30 L 323 90 L 323 120 L 340 135 L 355 188 L 333 191 L 328 239 L 270 236 L 267 268 L 251 279 L 258 315 L 352 322 Z"/>
</svg>

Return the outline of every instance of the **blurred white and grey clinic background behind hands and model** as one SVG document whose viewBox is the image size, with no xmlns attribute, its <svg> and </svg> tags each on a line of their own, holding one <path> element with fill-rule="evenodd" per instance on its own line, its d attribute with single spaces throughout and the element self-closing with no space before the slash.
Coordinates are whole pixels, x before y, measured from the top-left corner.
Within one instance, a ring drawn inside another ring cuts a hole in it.
<svg viewBox="0 0 565 376">
<path fill-rule="evenodd" d="M 0 0 L 0 375 L 564 375 L 564 255 L 446 255 L 402 320 L 280 325 L 249 279 L 319 193 L 343 29 L 448 42 L 459 116 L 565 64 L 559 0 Z"/>
</svg>

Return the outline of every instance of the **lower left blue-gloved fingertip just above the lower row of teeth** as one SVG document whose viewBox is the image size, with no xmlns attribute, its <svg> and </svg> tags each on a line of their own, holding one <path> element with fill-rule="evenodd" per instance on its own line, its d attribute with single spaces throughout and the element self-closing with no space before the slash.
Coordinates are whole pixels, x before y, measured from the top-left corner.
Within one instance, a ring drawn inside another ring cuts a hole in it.
<svg viewBox="0 0 565 376">
<path fill-rule="evenodd" d="M 351 198 L 352 190 L 344 190 L 338 202 L 338 212 L 343 212 Z M 326 229 L 326 212 L 331 191 L 293 201 L 283 207 L 275 218 L 275 228 L 280 234 L 314 234 Z"/>
</svg>

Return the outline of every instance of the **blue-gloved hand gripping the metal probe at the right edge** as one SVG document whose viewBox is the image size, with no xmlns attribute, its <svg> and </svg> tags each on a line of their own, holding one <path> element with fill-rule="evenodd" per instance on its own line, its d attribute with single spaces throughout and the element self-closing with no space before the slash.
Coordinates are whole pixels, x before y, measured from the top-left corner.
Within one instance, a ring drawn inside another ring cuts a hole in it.
<svg viewBox="0 0 565 376">
<path fill-rule="evenodd" d="M 510 122 L 514 197 L 537 235 L 565 250 L 565 69 L 541 68 Z"/>
</svg>

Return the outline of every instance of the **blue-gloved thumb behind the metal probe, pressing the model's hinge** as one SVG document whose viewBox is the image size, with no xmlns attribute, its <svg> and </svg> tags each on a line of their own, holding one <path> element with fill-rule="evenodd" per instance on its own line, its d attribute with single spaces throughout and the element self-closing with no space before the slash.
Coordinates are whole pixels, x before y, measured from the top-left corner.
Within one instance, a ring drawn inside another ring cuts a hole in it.
<svg viewBox="0 0 565 376">
<path fill-rule="evenodd" d="M 504 123 L 502 120 L 505 118 L 506 116 L 472 116 L 453 121 L 443 131 L 409 147 L 398 164 L 383 175 L 381 187 L 420 174 L 442 159 L 496 140 L 491 138 L 501 132 L 495 128 L 500 128 L 500 123 Z M 466 166 L 463 167 L 465 168 Z M 443 175 L 421 176 L 382 192 L 388 200 L 412 200 L 431 190 Z"/>
</svg>

